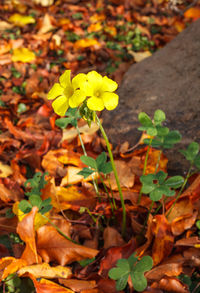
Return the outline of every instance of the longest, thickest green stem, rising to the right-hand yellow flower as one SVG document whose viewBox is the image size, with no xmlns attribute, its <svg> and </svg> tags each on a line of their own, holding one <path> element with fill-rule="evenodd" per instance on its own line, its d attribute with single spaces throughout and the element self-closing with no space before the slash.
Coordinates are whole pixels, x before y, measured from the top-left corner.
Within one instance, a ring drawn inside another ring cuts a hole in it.
<svg viewBox="0 0 200 293">
<path fill-rule="evenodd" d="M 110 157 L 110 162 L 111 162 L 111 165 L 112 165 L 112 168 L 113 168 L 113 172 L 114 172 L 114 175 L 115 175 L 115 180 L 116 180 L 119 195 L 120 195 L 120 200 L 121 200 L 121 205 L 122 205 L 122 214 L 123 214 L 122 215 L 122 236 L 124 237 L 125 233 L 126 233 L 126 208 L 125 208 L 125 204 L 124 204 L 124 198 L 123 198 L 123 194 L 122 194 L 122 190 L 121 190 L 121 186 L 120 186 L 120 182 L 119 182 L 119 178 L 118 178 L 118 174 L 117 174 L 117 169 L 116 169 L 116 166 L 115 166 L 115 163 L 114 163 L 113 154 L 112 154 L 112 151 L 111 151 L 111 148 L 110 148 L 110 143 L 109 143 L 108 137 L 107 137 L 107 135 L 106 135 L 106 133 L 104 131 L 104 128 L 103 128 L 103 126 L 101 124 L 101 121 L 99 120 L 99 117 L 97 116 L 96 113 L 95 113 L 95 116 L 96 116 L 95 118 L 96 118 L 97 124 L 99 126 L 99 129 L 101 130 L 103 138 L 105 139 L 105 142 L 106 142 L 106 146 L 107 146 L 109 157 Z"/>
</svg>

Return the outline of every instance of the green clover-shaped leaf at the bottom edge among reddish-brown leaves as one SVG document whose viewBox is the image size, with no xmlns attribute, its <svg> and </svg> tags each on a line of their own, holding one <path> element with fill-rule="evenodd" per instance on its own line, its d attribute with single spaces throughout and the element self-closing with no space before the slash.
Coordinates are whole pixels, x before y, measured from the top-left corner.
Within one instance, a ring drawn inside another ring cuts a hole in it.
<svg viewBox="0 0 200 293">
<path fill-rule="evenodd" d="M 138 292 L 143 291 L 147 286 L 147 279 L 144 273 L 153 266 L 153 260 L 150 256 L 143 256 L 140 260 L 135 254 L 128 259 L 119 259 L 116 268 L 109 270 L 108 276 L 116 280 L 117 291 L 124 290 L 127 286 L 128 277 L 131 277 L 132 285 Z"/>
</svg>

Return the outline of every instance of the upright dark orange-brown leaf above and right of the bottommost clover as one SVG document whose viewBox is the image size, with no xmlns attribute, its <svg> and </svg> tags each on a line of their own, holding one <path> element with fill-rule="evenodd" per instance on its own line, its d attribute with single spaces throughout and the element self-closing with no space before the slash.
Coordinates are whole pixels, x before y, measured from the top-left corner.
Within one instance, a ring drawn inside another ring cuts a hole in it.
<svg viewBox="0 0 200 293">
<path fill-rule="evenodd" d="M 164 215 L 156 215 L 152 223 L 152 232 L 155 236 L 152 249 L 154 266 L 167 257 L 174 243 L 174 236 L 171 232 L 170 224 Z"/>
</svg>

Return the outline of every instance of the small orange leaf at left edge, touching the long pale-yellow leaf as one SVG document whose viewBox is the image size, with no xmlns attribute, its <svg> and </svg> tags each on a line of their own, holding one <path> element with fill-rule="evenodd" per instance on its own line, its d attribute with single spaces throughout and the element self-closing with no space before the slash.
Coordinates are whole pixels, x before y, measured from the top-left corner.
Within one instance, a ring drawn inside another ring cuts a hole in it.
<svg viewBox="0 0 200 293">
<path fill-rule="evenodd" d="M 10 274 L 17 272 L 20 268 L 27 265 L 26 260 L 16 259 L 14 257 L 4 257 L 0 260 L 1 280 L 7 278 Z"/>
</svg>

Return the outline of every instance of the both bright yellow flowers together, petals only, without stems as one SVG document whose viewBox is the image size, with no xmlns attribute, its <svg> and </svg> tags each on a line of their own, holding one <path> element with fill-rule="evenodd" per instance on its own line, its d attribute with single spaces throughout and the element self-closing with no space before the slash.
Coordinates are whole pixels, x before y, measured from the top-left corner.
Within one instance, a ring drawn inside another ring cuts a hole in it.
<svg viewBox="0 0 200 293">
<path fill-rule="evenodd" d="M 64 116 L 69 107 L 79 107 L 86 99 L 92 111 L 117 107 L 119 97 L 114 93 L 118 86 L 115 81 L 96 71 L 79 73 L 71 80 L 70 73 L 71 70 L 66 70 L 48 93 L 47 98 L 54 100 L 52 107 L 56 114 Z"/>
</svg>

